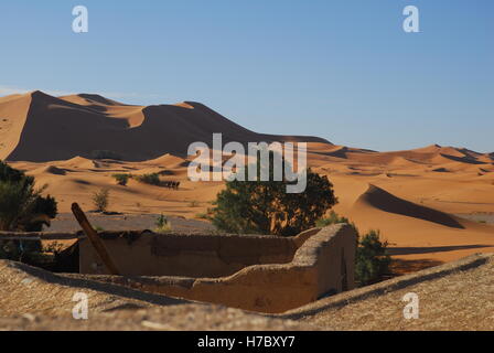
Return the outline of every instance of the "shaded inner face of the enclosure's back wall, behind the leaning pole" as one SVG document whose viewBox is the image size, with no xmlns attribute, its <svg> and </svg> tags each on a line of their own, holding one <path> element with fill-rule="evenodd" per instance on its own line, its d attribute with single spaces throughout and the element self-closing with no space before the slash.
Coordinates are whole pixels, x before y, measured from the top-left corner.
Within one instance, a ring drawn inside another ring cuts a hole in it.
<svg viewBox="0 0 494 353">
<path fill-rule="evenodd" d="M 314 232 L 312 232 L 314 233 Z M 290 263 L 310 233 L 293 238 L 259 235 L 101 232 L 124 276 L 224 277 L 253 265 Z M 80 274 L 108 274 L 87 238 L 79 239 Z"/>
</svg>

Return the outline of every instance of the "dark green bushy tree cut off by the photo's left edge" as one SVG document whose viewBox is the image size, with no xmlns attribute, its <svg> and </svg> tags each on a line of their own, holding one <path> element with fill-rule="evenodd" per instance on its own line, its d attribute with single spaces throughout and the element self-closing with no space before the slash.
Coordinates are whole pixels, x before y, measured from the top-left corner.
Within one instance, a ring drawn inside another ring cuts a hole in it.
<svg viewBox="0 0 494 353">
<path fill-rule="evenodd" d="M 0 231 L 40 232 L 56 216 L 55 199 L 42 196 L 34 178 L 0 161 Z"/>
</svg>

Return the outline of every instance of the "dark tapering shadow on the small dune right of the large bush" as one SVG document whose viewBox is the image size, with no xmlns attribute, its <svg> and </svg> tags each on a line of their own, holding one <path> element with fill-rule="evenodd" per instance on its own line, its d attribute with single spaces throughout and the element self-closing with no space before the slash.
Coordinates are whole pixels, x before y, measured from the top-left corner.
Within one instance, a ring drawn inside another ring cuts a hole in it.
<svg viewBox="0 0 494 353">
<path fill-rule="evenodd" d="M 433 222 L 452 228 L 464 229 L 463 225 L 447 213 L 399 199 L 373 184 L 369 184 L 367 191 L 358 197 L 357 203 L 370 205 L 388 213 Z"/>
</svg>

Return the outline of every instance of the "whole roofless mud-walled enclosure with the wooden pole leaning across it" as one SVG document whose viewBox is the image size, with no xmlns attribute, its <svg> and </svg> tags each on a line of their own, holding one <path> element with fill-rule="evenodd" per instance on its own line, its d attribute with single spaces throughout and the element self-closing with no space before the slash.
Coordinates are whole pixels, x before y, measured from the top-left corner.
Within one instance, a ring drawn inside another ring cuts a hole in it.
<svg viewBox="0 0 494 353">
<path fill-rule="evenodd" d="M 265 313 L 355 287 L 356 234 L 347 224 L 296 237 L 149 231 L 98 235 L 121 276 L 109 275 L 80 233 L 57 235 L 78 237 L 80 274 L 66 276 Z"/>
</svg>

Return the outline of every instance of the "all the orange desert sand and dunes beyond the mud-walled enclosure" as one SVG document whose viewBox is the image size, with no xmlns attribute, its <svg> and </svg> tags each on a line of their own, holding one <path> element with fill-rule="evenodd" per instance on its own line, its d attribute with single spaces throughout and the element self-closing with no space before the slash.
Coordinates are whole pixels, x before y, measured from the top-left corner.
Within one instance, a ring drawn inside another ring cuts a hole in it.
<svg viewBox="0 0 494 353">
<path fill-rule="evenodd" d="M 224 183 L 189 181 L 186 149 L 194 141 L 211 143 L 213 132 L 222 132 L 224 143 L 307 141 L 309 165 L 334 184 L 334 210 L 361 233 L 380 229 L 405 271 L 494 250 L 494 225 L 469 221 L 494 215 L 494 153 L 438 145 L 377 152 L 315 137 L 256 133 L 191 101 L 143 107 L 41 92 L 0 98 L 0 159 L 47 184 L 62 213 L 74 201 L 92 210 L 92 193 L 108 188 L 110 211 L 197 218 Z M 122 160 L 92 158 L 101 150 Z M 150 172 L 180 181 L 179 190 L 136 180 L 122 186 L 111 178 Z"/>
</svg>

